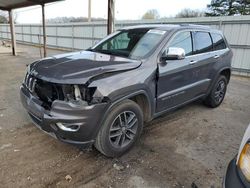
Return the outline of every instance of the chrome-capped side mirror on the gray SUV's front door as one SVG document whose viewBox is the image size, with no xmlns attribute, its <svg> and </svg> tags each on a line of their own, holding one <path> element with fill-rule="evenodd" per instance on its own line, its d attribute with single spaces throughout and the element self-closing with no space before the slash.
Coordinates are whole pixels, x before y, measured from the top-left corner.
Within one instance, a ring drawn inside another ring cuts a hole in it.
<svg viewBox="0 0 250 188">
<path fill-rule="evenodd" d="M 185 50 L 183 48 L 169 47 L 161 56 L 161 61 L 180 60 L 185 58 Z"/>
</svg>

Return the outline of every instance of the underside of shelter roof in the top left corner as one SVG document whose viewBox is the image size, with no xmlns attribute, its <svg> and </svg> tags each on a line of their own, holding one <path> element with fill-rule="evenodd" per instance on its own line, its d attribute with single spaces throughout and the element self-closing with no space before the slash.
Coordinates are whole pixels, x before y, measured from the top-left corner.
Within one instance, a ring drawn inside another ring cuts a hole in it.
<svg viewBox="0 0 250 188">
<path fill-rule="evenodd" d="M 0 0 L 1 10 L 11 10 L 16 8 L 23 8 L 33 5 L 42 5 L 61 0 Z"/>
</svg>

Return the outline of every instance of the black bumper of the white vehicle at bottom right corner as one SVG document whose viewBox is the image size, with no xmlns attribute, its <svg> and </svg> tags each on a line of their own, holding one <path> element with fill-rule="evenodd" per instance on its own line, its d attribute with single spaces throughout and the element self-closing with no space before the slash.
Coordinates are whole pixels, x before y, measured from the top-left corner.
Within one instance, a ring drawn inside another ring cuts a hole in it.
<svg viewBox="0 0 250 188">
<path fill-rule="evenodd" d="M 228 167 L 226 177 L 224 178 L 223 188 L 245 188 L 248 187 L 242 181 L 236 165 L 236 159 L 233 159 Z"/>
</svg>

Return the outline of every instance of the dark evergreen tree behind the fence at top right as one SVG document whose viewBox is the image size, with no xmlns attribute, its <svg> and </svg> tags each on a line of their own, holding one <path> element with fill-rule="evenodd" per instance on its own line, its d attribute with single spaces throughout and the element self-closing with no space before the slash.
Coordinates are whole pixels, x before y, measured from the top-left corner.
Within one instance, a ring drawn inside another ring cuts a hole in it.
<svg viewBox="0 0 250 188">
<path fill-rule="evenodd" d="M 250 0 L 212 0 L 206 16 L 250 15 Z"/>
</svg>

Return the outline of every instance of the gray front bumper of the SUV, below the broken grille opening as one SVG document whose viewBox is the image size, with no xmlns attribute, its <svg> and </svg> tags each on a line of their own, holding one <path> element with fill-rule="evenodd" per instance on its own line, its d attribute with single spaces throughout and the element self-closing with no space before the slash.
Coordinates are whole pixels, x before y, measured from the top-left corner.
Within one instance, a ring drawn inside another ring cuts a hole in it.
<svg viewBox="0 0 250 188">
<path fill-rule="evenodd" d="M 51 109 L 46 110 L 42 101 L 22 85 L 20 98 L 24 108 L 37 127 L 57 139 L 85 147 L 91 145 L 99 131 L 107 103 L 79 106 L 70 102 L 55 100 Z M 60 129 L 56 123 L 78 124 L 76 132 Z"/>
</svg>

